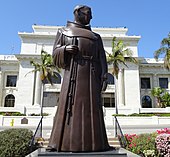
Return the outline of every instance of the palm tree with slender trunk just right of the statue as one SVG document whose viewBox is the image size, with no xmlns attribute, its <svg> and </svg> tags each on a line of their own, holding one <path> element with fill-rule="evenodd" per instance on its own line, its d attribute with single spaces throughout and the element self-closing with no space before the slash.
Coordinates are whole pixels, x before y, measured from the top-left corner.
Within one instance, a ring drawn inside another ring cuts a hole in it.
<svg viewBox="0 0 170 157">
<path fill-rule="evenodd" d="M 122 40 L 116 41 L 116 37 L 112 39 L 112 53 L 107 53 L 107 62 L 108 64 L 112 64 L 112 74 L 115 76 L 115 108 L 116 114 L 118 114 L 117 108 L 117 92 L 116 92 L 116 83 L 118 80 L 118 74 L 120 71 L 120 65 L 124 65 L 126 67 L 126 61 L 137 63 L 137 59 L 132 57 L 132 51 L 126 48 L 126 45 L 123 43 Z"/>
</svg>

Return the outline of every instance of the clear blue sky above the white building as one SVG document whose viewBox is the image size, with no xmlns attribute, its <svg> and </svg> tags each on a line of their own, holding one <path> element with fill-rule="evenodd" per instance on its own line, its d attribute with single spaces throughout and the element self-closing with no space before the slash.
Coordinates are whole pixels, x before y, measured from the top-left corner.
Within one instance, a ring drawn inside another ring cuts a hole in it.
<svg viewBox="0 0 170 157">
<path fill-rule="evenodd" d="M 140 57 L 152 58 L 170 32 L 170 0 L 2 0 L 0 3 L 0 54 L 20 53 L 18 32 L 32 32 L 32 25 L 65 25 L 73 8 L 92 8 L 92 27 L 127 27 L 140 35 Z"/>
</svg>

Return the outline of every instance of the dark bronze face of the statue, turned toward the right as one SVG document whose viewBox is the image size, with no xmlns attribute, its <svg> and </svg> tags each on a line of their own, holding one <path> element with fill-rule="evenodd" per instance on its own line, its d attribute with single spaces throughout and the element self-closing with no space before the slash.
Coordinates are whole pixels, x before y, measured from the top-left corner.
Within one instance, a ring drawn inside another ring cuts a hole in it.
<svg viewBox="0 0 170 157">
<path fill-rule="evenodd" d="M 92 19 L 92 12 L 90 8 L 84 7 L 78 11 L 78 17 L 76 18 L 77 22 L 83 25 L 88 25 L 91 19 Z"/>
</svg>

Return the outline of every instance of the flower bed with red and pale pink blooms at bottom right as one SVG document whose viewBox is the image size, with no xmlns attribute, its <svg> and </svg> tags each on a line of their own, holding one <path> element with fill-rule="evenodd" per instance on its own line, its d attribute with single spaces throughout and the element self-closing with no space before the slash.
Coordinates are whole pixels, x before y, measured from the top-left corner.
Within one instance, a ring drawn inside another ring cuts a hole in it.
<svg viewBox="0 0 170 157">
<path fill-rule="evenodd" d="M 126 149 L 142 157 L 170 157 L 170 129 L 151 134 L 125 134 Z"/>
</svg>

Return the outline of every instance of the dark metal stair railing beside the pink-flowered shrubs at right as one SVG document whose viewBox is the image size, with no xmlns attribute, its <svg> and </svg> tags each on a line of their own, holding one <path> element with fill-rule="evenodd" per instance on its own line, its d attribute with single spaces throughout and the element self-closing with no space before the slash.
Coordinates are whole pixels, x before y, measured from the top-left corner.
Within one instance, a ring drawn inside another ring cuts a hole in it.
<svg viewBox="0 0 170 157">
<path fill-rule="evenodd" d="M 124 134 L 122 132 L 122 129 L 121 129 L 120 125 L 119 125 L 117 117 L 114 116 L 114 118 L 115 118 L 115 137 L 118 137 L 121 146 L 123 148 L 126 148 L 126 146 L 127 146 L 126 139 L 125 139 Z"/>
</svg>

